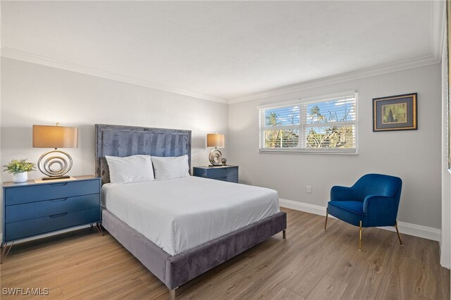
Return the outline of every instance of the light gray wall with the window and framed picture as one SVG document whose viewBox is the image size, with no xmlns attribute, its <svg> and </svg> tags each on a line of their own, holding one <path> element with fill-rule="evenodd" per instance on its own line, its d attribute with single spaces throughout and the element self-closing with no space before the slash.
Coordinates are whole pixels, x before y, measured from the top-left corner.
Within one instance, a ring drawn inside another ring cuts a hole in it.
<svg viewBox="0 0 451 300">
<path fill-rule="evenodd" d="M 257 106 L 356 89 L 358 155 L 260 154 Z M 418 130 L 373 132 L 372 99 L 418 92 Z M 278 190 L 280 198 L 326 206 L 330 187 L 352 185 L 365 173 L 403 180 L 398 220 L 441 226 L 440 64 L 229 105 L 228 153 L 240 182 Z M 306 186 L 312 193 L 307 194 Z"/>
</svg>

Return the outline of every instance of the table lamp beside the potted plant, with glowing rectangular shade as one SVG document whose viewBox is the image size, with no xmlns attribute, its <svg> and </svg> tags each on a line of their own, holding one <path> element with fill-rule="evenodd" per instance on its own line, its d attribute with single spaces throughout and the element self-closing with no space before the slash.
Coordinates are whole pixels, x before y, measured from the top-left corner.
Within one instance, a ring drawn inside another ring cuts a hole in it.
<svg viewBox="0 0 451 300">
<path fill-rule="evenodd" d="M 39 171 L 48 177 L 42 180 L 69 178 L 66 175 L 72 168 L 72 157 L 58 148 L 78 147 L 78 127 L 63 127 L 47 125 L 33 125 L 33 147 L 54 148 L 48 151 L 37 161 Z"/>
</svg>

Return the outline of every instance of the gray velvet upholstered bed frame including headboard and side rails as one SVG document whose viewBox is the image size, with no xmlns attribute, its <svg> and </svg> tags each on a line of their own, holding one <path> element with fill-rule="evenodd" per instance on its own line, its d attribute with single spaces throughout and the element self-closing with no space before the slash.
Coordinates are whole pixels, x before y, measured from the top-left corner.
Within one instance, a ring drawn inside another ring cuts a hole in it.
<svg viewBox="0 0 451 300">
<path fill-rule="evenodd" d="M 95 130 L 96 176 L 101 177 L 102 184 L 110 182 L 105 156 L 187 154 L 191 169 L 190 130 L 101 124 L 96 124 Z M 174 256 L 167 254 L 106 209 L 102 209 L 102 225 L 170 289 L 171 299 L 175 299 L 175 289 L 194 277 L 264 242 L 278 232 L 283 232 L 285 238 L 287 215 L 284 212 L 276 213 Z"/>
</svg>

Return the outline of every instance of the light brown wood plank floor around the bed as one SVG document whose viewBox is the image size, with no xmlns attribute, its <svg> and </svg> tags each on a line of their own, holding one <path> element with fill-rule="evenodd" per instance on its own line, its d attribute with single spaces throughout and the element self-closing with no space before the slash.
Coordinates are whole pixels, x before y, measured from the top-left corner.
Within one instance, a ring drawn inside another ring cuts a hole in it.
<svg viewBox="0 0 451 300">
<path fill-rule="evenodd" d="M 288 212 L 278 234 L 183 285 L 178 299 L 450 299 L 438 242 Z M 13 246 L 1 288 L 48 288 L 41 299 L 168 299 L 168 289 L 121 244 L 95 229 Z M 30 299 L 4 296 L 1 299 Z"/>
</svg>

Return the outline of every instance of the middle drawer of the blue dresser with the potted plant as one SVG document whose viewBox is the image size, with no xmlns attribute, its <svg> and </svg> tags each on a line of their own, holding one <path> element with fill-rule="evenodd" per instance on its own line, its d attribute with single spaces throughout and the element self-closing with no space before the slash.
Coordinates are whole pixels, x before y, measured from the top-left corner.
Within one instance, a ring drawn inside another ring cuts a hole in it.
<svg viewBox="0 0 451 300">
<path fill-rule="evenodd" d="M 6 206 L 5 222 L 13 223 L 58 213 L 70 213 L 88 208 L 99 207 L 100 194 L 90 194 L 61 199 L 53 199 L 27 204 Z"/>
</svg>

